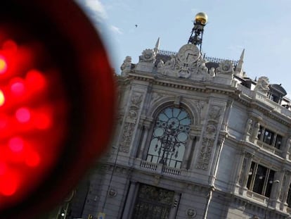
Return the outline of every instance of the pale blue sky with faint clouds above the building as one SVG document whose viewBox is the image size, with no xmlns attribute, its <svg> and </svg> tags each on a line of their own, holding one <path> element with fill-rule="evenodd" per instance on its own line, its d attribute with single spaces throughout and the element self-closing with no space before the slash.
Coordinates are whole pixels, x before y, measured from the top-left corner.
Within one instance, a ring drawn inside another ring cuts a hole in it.
<svg viewBox="0 0 291 219">
<path fill-rule="evenodd" d="M 238 60 L 243 49 L 247 77 L 269 77 L 291 95 L 291 0 L 75 0 L 101 34 L 120 73 L 125 56 L 138 63 L 144 49 L 179 51 L 188 42 L 193 20 L 208 15 L 202 51 Z M 137 25 L 137 26 L 136 26 Z"/>
</svg>

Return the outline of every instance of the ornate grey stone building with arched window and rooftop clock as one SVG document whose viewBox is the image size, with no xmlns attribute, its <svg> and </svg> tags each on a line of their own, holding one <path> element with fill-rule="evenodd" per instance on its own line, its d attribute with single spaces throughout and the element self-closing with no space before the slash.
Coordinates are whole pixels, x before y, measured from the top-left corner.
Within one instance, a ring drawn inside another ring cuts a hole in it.
<svg viewBox="0 0 291 219">
<path fill-rule="evenodd" d="M 79 217 L 289 218 L 290 100 L 248 78 L 243 56 L 159 42 L 136 64 L 127 56 L 116 132 L 83 183 Z"/>
</svg>

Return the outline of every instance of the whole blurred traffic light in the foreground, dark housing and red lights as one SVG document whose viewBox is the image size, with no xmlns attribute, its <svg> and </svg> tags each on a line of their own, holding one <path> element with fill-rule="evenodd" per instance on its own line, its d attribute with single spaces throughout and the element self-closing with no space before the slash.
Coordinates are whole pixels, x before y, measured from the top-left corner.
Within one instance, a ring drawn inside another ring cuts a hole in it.
<svg viewBox="0 0 291 219">
<path fill-rule="evenodd" d="M 72 0 L 0 7 L 0 218 L 60 201 L 105 150 L 115 82 L 98 33 Z"/>
</svg>

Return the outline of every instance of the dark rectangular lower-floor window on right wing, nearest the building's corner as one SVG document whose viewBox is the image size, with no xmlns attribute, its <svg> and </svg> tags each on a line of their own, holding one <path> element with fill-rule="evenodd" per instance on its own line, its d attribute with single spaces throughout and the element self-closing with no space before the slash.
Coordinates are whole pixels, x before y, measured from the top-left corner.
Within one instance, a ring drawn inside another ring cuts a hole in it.
<svg viewBox="0 0 291 219">
<path fill-rule="evenodd" d="M 257 194 L 270 197 L 275 171 L 252 162 L 247 189 Z"/>
</svg>

